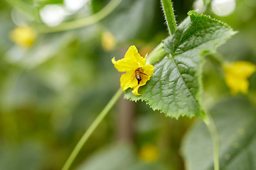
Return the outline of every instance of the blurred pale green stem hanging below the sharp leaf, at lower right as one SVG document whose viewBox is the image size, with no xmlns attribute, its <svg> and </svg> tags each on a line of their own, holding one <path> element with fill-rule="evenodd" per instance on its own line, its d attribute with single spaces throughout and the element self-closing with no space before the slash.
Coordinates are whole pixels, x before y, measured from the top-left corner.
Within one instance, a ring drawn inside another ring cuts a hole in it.
<svg viewBox="0 0 256 170">
<path fill-rule="evenodd" d="M 214 170 L 219 170 L 220 169 L 220 162 L 219 162 L 220 141 L 218 137 L 218 130 L 210 114 L 207 113 L 207 117 L 208 117 L 208 122 L 205 121 L 205 123 L 208 127 L 208 130 L 210 131 L 210 136 L 212 137 L 212 140 L 213 140 Z"/>
</svg>

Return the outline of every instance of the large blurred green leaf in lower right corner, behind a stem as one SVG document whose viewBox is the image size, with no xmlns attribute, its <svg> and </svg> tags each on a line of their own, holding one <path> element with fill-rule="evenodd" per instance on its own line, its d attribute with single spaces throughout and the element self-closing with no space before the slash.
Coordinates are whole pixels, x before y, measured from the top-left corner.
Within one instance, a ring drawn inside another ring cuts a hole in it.
<svg viewBox="0 0 256 170">
<path fill-rule="evenodd" d="M 210 109 L 220 138 L 220 169 L 251 170 L 256 167 L 256 108 L 245 98 L 228 98 Z M 196 122 L 183 140 L 188 170 L 213 169 L 210 132 Z"/>
</svg>

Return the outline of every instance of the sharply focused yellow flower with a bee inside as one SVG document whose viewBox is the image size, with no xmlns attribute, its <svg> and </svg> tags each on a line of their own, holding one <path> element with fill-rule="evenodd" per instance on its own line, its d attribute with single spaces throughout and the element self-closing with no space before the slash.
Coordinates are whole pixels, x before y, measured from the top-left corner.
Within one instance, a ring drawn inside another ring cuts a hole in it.
<svg viewBox="0 0 256 170">
<path fill-rule="evenodd" d="M 134 45 L 129 47 L 123 59 L 116 62 L 113 57 L 112 63 L 119 72 L 126 72 L 120 78 L 122 89 L 133 88 L 132 93 L 137 96 L 139 87 L 144 86 L 154 72 L 154 66 L 146 64 L 146 59 L 139 55 Z"/>
</svg>

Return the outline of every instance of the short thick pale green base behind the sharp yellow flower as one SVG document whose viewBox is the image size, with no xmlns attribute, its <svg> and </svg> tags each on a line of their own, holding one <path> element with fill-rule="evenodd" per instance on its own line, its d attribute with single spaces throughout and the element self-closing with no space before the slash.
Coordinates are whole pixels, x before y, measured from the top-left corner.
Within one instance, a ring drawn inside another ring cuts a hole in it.
<svg viewBox="0 0 256 170">
<path fill-rule="evenodd" d="M 156 64 L 157 62 L 161 61 L 168 52 L 164 50 L 163 43 L 160 43 L 150 54 L 146 57 L 146 62 L 149 64 Z"/>
</svg>

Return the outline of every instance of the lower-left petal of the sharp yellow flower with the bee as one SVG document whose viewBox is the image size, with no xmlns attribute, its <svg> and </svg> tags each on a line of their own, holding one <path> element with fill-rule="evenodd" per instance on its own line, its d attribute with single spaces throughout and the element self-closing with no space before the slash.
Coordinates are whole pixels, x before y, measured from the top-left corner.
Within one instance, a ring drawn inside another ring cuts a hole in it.
<svg viewBox="0 0 256 170">
<path fill-rule="evenodd" d="M 120 86 L 122 87 L 123 91 L 125 91 L 129 87 L 132 88 L 137 85 L 138 82 L 135 78 L 134 72 L 130 71 L 122 74 L 122 77 L 120 78 Z"/>
</svg>

